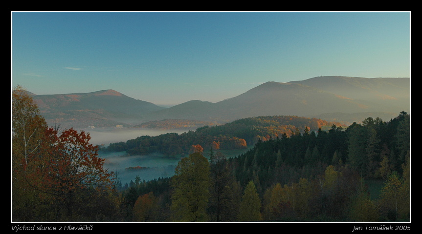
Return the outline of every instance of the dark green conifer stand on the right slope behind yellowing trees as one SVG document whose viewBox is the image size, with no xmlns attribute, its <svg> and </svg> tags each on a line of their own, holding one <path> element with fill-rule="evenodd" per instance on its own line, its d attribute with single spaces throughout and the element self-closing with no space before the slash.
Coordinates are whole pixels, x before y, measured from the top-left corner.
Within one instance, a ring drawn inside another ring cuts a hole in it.
<svg viewBox="0 0 422 234">
<path fill-rule="evenodd" d="M 293 175 L 298 176 L 294 181 L 299 177 L 313 177 L 328 165 L 348 164 L 359 176 L 385 178 L 391 171 L 403 172 L 406 154 L 410 154 L 410 116 L 402 112 L 388 122 L 368 117 L 362 124 L 353 123 L 346 128 L 332 126 L 328 131 L 259 141 L 254 148 L 233 160 L 244 164 L 237 168 L 244 185 L 254 179 L 253 171 L 261 173 L 256 175 L 261 181 L 284 184 L 289 183 L 289 179 L 285 179 Z M 280 169 L 278 173 L 286 173 L 288 168 L 299 171 L 289 176 L 267 171 L 282 164 L 286 171 Z M 249 170 L 246 172 L 244 168 Z M 267 187 L 265 183 L 261 185 L 264 189 Z"/>
</svg>

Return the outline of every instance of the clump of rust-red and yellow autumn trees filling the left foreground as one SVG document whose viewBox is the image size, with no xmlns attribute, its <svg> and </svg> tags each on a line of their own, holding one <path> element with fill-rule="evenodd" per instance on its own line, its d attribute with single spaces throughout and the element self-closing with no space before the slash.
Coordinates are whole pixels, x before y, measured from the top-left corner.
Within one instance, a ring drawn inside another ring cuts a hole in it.
<svg viewBox="0 0 422 234">
<path fill-rule="evenodd" d="M 96 206 L 96 212 L 112 213 L 115 204 L 107 209 L 99 204 L 118 202 L 111 190 L 113 173 L 103 168 L 104 159 L 89 140 L 84 131 L 48 128 L 30 93 L 20 86 L 12 90 L 13 220 L 66 220 L 61 217 L 71 217 L 78 202 L 91 212 Z M 89 214 L 86 210 L 78 212 Z"/>
</svg>

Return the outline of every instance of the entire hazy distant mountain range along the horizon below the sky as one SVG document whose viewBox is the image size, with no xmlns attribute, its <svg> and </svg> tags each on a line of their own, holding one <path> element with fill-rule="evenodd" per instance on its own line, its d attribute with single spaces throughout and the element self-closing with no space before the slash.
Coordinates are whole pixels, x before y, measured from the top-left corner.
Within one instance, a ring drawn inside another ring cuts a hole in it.
<svg viewBox="0 0 422 234">
<path fill-rule="evenodd" d="M 50 125 L 57 122 L 65 127 L 134 126 L 163 119 L 221 124 L 246 117 L 280 115 L 350 124 L 366 117 L 389 120 L 400 111 L 410 113 L 410 78 L 337 76 L 266 82 L 220 102 L 191 100 L 170 108 L 114 90 L 33 97 Z"/>
</svg>

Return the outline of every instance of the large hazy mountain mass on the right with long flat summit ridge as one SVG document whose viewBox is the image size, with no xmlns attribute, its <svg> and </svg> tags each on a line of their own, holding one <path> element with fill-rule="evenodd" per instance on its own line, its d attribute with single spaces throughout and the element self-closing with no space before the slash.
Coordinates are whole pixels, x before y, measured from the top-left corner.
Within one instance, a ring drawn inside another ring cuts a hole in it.
<svg viewBox="0 0 422 234">
<path fill-rule="evenodd" d="M 410 78 L 315 77 L 266 82 L 234 98 L 217 103 L 188 101 L 149 117 L 228 122 L 244 117 L 295 115 L 341 121 L 334 116 L 362 113 L 354 116 L 359 122 L 370 117 L 369 113 L 395 117 L 403 110 L 410 111 Z"/>
</svg>

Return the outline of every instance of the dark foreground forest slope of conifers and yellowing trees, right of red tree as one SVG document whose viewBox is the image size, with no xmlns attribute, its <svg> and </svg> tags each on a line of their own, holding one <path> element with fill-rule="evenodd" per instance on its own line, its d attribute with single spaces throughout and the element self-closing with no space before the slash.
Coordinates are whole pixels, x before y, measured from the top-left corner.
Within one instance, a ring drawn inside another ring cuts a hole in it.
<svg viewBox="0 0 422 234">
<path fill-rule="evenodd" d="M 230 124 L 278 118 L 289 117 Z M 196 212 L 212 222 L 409 222 L 410 115 L 259 140 L 230 158 L 218 150 L 193 153 L 175 171 L 171 178 L 135 178 L 125 186 L 124 201 L 134 214 L 129 220 L 193 222 L 188 215 Z M 145 208 L 150 201 L 154 208 Z M 184 216 L 177 216 L 180 211 Z M 153 215 L 137 215 L 146 212 Z"/>
</svg>

